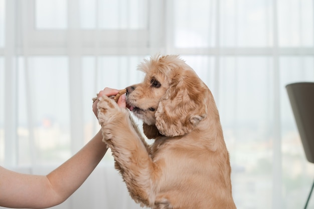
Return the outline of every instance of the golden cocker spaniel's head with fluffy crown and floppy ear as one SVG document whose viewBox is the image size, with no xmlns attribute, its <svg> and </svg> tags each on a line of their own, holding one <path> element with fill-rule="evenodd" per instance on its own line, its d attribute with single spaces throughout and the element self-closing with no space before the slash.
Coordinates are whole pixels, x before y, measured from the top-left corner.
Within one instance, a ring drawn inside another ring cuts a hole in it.
<svg viewBox="0 0 314 209">
<path fill-rule="evenodd" d="M 151 57 L 138 69 L 144 81 L 126 88 L 126 103 L 148 138 L 184 135 L 206 117 L 209 89 L 178 56 Z"/>
</svg>

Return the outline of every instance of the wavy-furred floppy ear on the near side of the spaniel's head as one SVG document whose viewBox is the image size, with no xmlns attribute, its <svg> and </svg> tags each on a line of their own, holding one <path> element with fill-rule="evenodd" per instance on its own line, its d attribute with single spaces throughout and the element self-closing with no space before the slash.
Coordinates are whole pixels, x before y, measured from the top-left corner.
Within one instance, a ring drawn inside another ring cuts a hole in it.
<svg viewBox="0 0 314 209">
<path fill-rule="evenodd" d="M 181 136 L 206 117 L 207 86 L 192 70 L 183 70 L 172 79 L 155 113 L 156 128 L 165 136 Z"/>
</svg>

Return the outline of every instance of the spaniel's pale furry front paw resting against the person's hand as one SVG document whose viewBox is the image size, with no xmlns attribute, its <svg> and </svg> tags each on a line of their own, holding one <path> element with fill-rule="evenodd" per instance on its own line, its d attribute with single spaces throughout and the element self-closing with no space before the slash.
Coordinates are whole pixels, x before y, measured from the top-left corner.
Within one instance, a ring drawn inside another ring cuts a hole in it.
<svg viewBox="0 0 314 209">
<path fill-rule="evenodd" d="M 113 131 L 118 126 L 118 122 L 124 117 L 128 117 L 125 109 L 120 108 L 118 104 L 107 96 L 99 98 L 97 104 L 98 122 L 101 125 L 104 140 L 111 139 Z"/>
</svg>

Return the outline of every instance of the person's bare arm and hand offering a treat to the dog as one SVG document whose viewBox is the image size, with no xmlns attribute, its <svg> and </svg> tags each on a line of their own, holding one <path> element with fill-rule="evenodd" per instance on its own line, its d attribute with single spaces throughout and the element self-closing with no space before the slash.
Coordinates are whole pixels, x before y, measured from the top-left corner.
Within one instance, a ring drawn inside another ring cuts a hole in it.
<svg viewBox="0 0 314 209">
<path fill-rule="evenodd" d="M 114 95 L 116 91 L 106 88 L 98 96 Z M 93 104 L 93 111 L 97 102 Z M 119 98 L 118 105 L 125 108 L 125 97 Z M 97 111 L 94 113 L 97 116 Z M 85 181 L 106 151 L 99 131 L 79 152 L 48 175 L 17 173 L 0 166 L 0 206 L 45 208 L 62 203 Z"/>
</svg>

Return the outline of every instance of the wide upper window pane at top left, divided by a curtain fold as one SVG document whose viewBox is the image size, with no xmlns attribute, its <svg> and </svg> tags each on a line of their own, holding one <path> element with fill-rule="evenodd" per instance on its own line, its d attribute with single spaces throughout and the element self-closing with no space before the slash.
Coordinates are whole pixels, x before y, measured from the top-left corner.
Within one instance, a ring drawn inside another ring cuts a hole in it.
<svg viewBox="0 0 314 209">
<path fill-rule="evenodd" d="M 81 29 L 116 30 L 146 27 L 147 1 L 80 0 L 78 2 Z M 41 30 L 67 29 L 68 7 L 67 1 L 62 0 L 36 1 L 36 28 Z"/>
</svg>

